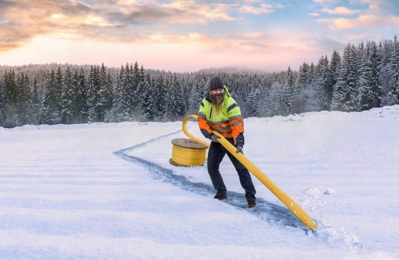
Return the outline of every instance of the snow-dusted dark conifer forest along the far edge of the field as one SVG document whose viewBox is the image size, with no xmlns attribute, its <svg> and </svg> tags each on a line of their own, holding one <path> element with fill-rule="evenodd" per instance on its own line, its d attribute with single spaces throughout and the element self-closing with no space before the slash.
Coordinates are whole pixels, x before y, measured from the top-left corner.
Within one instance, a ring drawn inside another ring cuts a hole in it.
<svg viewBox="0 0 399 260">
<path fill-rule="evenodd" d="M 120 68 L 41 64 L 0 66 L 0 126 L 171 121 L 197 113 L 219 76 L 245 117 L 319 110 L 361 111 L 399 104 L 399 42 L 348 43 L 298 71 L 208 69 L 172 73 L 126 63 Z"/>
</svg>

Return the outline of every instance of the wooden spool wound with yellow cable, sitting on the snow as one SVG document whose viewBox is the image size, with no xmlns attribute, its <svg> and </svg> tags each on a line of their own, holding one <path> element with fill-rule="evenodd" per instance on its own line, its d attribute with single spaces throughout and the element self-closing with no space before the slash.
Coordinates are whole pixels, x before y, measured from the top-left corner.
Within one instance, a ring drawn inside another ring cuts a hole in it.
<svg viewBox="0 0 399 260">
<path fill-rule="evenodd" d="M 169 162 L 175 166 L 204 165 L 207 146 L 187 138 L 172 140 L 172 158 Z"/>
</svg>

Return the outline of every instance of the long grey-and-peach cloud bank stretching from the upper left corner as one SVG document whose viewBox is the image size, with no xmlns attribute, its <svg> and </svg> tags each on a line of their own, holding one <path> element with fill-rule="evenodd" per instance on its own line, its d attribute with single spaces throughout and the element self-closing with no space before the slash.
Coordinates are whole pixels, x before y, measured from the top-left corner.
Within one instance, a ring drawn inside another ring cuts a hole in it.
<svg viewBox="0 0 399 260">
<path fill-rule="evenodd" d="M 0 1 L 0 51 L 9 51 L 36 36 L 67 36 L 99 41 L 140 41 L 159 33 L 164 25 L 207 24 L 232 21 L 227 4 L 200 4 L 176 0 L 98 1 L 95 5 L 77 0 Z"/>
</svg>

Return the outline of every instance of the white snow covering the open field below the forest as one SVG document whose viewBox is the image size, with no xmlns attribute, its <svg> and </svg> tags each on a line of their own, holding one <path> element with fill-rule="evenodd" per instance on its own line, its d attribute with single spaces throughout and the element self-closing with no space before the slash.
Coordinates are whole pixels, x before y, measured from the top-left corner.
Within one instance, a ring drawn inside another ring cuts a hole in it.
<svg viewBox="0 0 399 260">
<path fill-rule="evenodd" d="M 225 201 L 170 165 L 182 122 L 0 128 L 0 259 L 399 259 L 398 129 L 399 105 L 245 120 L 311 232 L 254 176 L 248 209 L 227 157 Z"/>
</svg>

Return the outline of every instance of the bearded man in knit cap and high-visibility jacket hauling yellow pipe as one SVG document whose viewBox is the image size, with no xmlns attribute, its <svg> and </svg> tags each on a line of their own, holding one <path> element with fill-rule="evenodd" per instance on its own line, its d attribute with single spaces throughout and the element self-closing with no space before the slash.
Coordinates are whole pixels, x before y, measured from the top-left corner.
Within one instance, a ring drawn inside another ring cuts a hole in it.
<svg viewBox="0 0 399 260">
<path fill-rule="evenodd" d="M 219 77 L 212 78 L 209 93 L 199 105 L 198 125 L 202 135 L 212 140 L 208 152 L 207 167 L 213 187 L 217 190 L 214 198 L 227 199 L 227 189 L 219 172 L 220 162 L 227 154 L 237 170 L 239 181 L 245 190 L 248 207 L 255 207 L 257 205 L 256 191 L 247 168 L 217 141 L 220 137 L 212 133 L 212 131 L 219 132 L 237 148 L 236 152 L 243 153 L 244 120 L 241 110 Z"/>
</svg>

